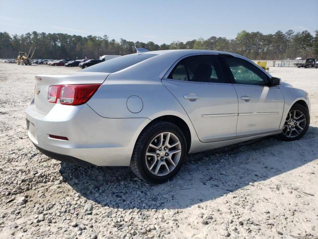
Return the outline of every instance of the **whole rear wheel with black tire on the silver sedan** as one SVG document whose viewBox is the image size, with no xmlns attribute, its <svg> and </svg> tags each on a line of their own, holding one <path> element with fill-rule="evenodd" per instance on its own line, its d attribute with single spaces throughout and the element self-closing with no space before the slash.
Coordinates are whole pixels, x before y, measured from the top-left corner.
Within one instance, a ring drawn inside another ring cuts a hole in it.
<svg viewBox="0 0 318 239">
<path fill-rule="evenodd" d="M 186 152 L 187 143 L 182 130 L 170 122 L 156 122 L 139 135 L 130 167 L 146 182 L 164 183 L 178 173 Z"/>
</svg>

